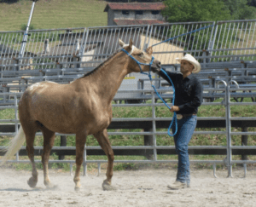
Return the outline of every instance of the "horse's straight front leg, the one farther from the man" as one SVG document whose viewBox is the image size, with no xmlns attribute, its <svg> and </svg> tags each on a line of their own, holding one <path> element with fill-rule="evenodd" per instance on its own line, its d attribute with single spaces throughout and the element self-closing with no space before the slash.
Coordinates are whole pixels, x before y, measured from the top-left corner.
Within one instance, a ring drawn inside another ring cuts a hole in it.
<svg viewBox="0 0 256 207">
<path fill-rule="evenodd" d="M 77 169 L 73 178 L 73 181 L 75 182 L 75 190 L 79 191 L 81 188 L 81 182 L 80 182 L 80 169 L 81 165 L 83 163 L 83 154 L 84 154 L 84 145 L 86 142 L 86 130 L 79 132 L 76 134 L 76 164 Z"/>
</svg>

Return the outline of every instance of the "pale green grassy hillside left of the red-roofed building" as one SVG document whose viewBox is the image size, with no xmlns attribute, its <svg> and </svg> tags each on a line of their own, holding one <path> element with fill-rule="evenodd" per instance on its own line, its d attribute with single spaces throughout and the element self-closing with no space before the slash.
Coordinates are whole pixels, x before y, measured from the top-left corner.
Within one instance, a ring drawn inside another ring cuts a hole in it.
<svg viewBox="0 0 256 207">
<path fill-rule="evenodd" d="M 108 14 L 100 0 L 39 0 L 35 4 L 32 26 L 35 29 L 107 26 Z M 0 31 L 18 31 L 27 23 L 32 1 L 0 3 Z"/>
</svg>

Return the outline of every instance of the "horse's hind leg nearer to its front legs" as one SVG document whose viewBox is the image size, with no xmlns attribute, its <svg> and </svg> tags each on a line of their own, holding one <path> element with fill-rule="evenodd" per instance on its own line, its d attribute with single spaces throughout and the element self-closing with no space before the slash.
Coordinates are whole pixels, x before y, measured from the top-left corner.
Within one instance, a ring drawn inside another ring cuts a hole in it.
<svg viewBox="0 0 256 207">
<path fill-rule="evenodd" d="M 44 152 L 42 154 L 42 164 L 44 169 L 44 185 L 46 187 L 53 187 L 49 181 L 49 173 L 48 173 L 48 162 L 49 162 L 49 152 L 54 145 L 55 141 L 55 132 L 46 129 L 43 127 L 41 129 L 44 135 Z"/>
</svg>

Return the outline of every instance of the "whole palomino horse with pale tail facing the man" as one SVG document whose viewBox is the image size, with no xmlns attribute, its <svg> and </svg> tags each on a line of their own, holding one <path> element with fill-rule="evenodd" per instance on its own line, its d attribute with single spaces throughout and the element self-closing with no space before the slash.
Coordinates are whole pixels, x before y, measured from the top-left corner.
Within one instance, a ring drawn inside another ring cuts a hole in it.
<svg viewBox="0 0 256 207">
<path fill-rule="evenodd" d="M 54 145 L 55 132 L 76 134 L 76 171 L 73 181 L 75 189 L 81 187 L 79 172 L 83 163 L 84 144 L 87 135 L 94 135 L 102 150 L 108 156 L 107 179 L 103 181 L 104 190 L 112 190 L 113 150 L 108 140 L 107 128 L 112 119 L 113 96 L 119 89 L 122 80 L 130 72 L 148 72 L 152 60 L 152 49 L 143 52 L 132 45 L 119 40 L 120 46 L 136 60 L 145 65 L 138 66 L 125 51 L 118 50 L 108 60 L 97 66 L 84 77 L 69 84 L 52 82 L 34 83 L 26 89 L 19 102 L 21 127 L 11 141 L 8 151 L 2 160 L 3 165 L 8 158 L 18 152 L 26 139 L 26 151 L 32 163 L 32 177 L 27 181 L 30 187 L 36 187 L 38 171 L 34 162 L 33 142 L 36 132 L 44 135 L 44 185 L 53 187 L 49 181 L 49 152 Z M 160 71 L 160 61 L 154 60 L 151 67 Z"/>
</svg>

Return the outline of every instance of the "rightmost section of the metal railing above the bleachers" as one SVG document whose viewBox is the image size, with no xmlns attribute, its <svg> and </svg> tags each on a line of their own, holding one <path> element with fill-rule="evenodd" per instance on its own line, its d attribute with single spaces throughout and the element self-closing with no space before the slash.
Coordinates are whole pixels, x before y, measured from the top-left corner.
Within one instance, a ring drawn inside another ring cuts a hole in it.
<svg viewBox="0 0 256 207">
<path fill-rule="evenodd" d="M 213 61 L 255 60 L 256 21 L 218 21 L 212 45 Z"/>
</svg>

